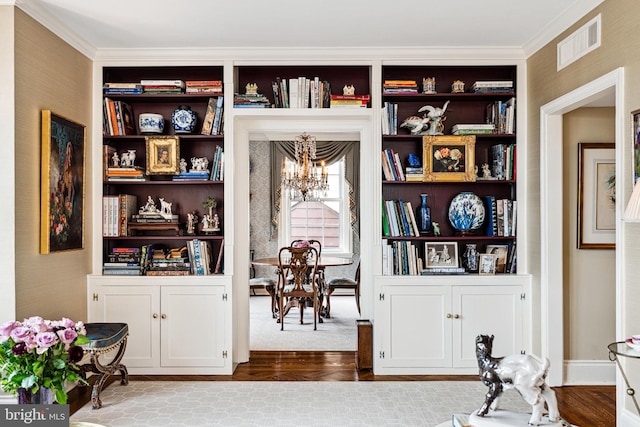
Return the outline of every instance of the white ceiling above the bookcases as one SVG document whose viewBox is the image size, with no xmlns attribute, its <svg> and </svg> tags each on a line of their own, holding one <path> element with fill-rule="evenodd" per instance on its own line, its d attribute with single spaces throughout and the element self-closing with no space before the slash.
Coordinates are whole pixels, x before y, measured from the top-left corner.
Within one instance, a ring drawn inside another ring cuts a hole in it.
<svg viewBox="0 0 640 427">
<path fill-rule="evenodd" d="M 15 4 L 63 39 L 95 50 L 509 47 L 528 56 L 602 1 L 0 0 L 0 5 Z"/>
</svg>

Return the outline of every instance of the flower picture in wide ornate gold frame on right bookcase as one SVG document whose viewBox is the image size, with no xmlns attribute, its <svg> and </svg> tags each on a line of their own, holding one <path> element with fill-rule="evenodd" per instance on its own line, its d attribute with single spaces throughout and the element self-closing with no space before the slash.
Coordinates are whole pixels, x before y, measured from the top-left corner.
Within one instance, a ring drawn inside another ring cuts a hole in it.
<svg viewBox="0 0 640 427">
<path fill-rule="evenodd" d="M 475 135 L 425 135 L 425 182 L 475 182 Z"/>
</svg>

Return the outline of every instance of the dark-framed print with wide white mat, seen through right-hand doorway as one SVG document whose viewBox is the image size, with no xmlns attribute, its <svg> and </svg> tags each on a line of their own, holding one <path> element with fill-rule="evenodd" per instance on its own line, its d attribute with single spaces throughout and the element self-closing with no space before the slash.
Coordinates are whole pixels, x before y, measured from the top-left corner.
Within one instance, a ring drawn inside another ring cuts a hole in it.
<svg viewBox="0 0 640 427">
<path fill-rule="evenodd" d="M 578 147 L 578 249 L 614 249 L 615 144 L 583 142 Z"/>
</svg>

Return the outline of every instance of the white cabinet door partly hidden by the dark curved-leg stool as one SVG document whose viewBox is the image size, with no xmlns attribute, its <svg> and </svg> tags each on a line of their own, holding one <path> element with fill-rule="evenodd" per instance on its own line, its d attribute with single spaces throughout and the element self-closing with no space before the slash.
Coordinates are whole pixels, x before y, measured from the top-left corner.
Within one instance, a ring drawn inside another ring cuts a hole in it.
<svg viewBox="0 0 640 427">
<path fill-rule="evenodd" d="M 89 289 L 90 322 L 124 322 L 129 326 L 122 363 L 131 368 L 159 366 L 159 288 L 149 285 L 90 285 Z"/>
</svg>

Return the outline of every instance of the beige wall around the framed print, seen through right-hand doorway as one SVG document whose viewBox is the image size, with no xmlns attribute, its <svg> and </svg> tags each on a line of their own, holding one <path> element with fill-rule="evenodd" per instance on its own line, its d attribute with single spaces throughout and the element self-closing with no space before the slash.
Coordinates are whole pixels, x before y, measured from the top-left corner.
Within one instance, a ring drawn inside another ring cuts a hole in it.
<svg viewBox="0 0 640 427">
<path fill-rule="evenodd" d="M 615 251 L 578 249 L 578 144 L 614 142 L 614 108 L 580 108 L 563 117 L 564 355 L 607 359 L 615 336 Z M 594 304 L 597 301 L 597 304 Z M 588 339 L 585 339 L 588 338 Z"/>
</svg>

